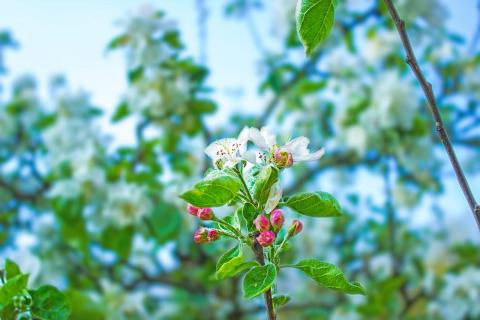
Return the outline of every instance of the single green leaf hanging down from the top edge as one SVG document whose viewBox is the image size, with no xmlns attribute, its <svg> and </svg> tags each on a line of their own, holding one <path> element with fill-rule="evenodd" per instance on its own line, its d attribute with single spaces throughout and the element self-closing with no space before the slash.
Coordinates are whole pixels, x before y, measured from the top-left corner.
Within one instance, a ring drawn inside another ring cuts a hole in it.
<svg viewBox="0 0 480 320">
<path fill-rule="evenodd" d="M 297 33 L 310 56 L 332 29 L 335 15 L 334 0 L 299 0 L 295 18 Z"/>
</svg>

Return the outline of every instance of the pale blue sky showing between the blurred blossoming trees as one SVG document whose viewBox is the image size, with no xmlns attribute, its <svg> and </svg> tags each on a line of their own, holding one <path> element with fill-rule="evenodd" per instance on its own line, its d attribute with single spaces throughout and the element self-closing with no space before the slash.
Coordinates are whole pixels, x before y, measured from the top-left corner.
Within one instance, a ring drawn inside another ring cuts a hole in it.
<svg viewBox="0 0 480 320">
<path fill-rule="evenodd" d="M 245 23 L 223 19 L 219 2 L 207 1 L 211 9 L 207 43 L 212 71 L 209 82 L 216 88 L 218 101 L 224 107 L 210 119 L 211 124 L 224 118 L 232 106 L 240 105 L 228 98 L 227 91 L 242 88 L 242 105 L 249 106 L 251 110 L 263 106 L 256 96 L 257 48 L 248 35 Z M 451 11 L 448 20 L 450 28 L 470 39 L 478 19 L 476 0 L 444 2 Z M 6 63 L 10 72 L 7 82 L 15 76 L 30 73 L 39 79 L 44 89 L 53 74 L 63 73 L 73 88 L 87 90 L 92 94 L 94 103 L 113 110 L 126 88 L 124 59 L 119 52 L 107 55 L 105 47 L 121 30 L 115 22 L 144 3 L 134 0 L 0 0 L 0 30 L 10 29 L 21 44 L 19 50 L 7 53 Z M 195 0 L 152 3 L 178 20 L 190 54 L 198 56 Z M 266 35 L 271 28 L 268 18 L 259 22 L 259 27 Z M 475 178 L 473 185 L 480 190 L 480 181 Z M 440 205 L 455 210 L 460 217 L 468 217 L 465 230 L 475 231 L 473 218 L 464 204 L 456 182 L 450 179 Z"/>
</svg>

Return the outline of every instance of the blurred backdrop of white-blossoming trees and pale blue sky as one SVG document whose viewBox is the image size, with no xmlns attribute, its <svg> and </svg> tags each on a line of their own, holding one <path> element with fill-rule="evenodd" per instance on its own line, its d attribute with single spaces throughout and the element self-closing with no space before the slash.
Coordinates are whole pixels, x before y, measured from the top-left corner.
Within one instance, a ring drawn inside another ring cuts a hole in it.
<svg viewBox="0 0 480 320">
<path fill-rule="evenodd" d="M 475 0 L 398 0 L 480 197 Z M 177 195 L 245 125 L 305 135 L 345 217 L 306 220 L 287 259 L 341 266 L 366 297 L 282 273 L 280 319 L 480 319 L 479 233 L 382 1 L 339 1 L 306 59 L 292 0 L 0 1 L 2 260 L 64 290 L 72 319 L 263 319 L 231 244 L 193 244 Z M 289 218 L 294 217 L 288 212 Z"/>
</svg>

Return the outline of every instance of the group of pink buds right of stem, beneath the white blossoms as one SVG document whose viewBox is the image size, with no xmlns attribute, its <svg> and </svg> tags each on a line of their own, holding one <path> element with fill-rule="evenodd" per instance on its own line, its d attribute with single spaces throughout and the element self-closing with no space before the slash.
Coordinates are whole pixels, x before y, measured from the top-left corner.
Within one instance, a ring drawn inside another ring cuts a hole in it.
<svg viewBox="0 0 480 320">
<path fill-rule="evenodd" d="M 274 209 L 270 212 L 269 217 L 264 214 L 260 214 L 253 221 L 256 229 L 260 231 L 257 236 L 257 242 L 262 247 L 270 246 L 277 236 L 277 233 L 282 229 L 285 223 L 285 217 L 283 211 L 280 209 Z M 291 235 L 294 236 L 302 231 L 303 225 L 299 220 L 294 220 L 289 230 L 292 230 Z"/>
</svg>

